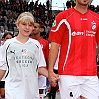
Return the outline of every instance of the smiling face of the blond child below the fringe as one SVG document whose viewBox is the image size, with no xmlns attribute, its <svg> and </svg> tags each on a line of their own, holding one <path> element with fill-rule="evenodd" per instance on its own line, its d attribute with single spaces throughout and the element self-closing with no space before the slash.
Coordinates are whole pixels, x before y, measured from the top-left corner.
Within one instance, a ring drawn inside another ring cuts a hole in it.
<svg viewBox="0 0 99 99">
<path fill-rule="evenodd" d="M 19 29 L 19 33 L 21 35 L 24 35 L 24 36 L 29 36 L 32 31 L 33 31 L 33 24 L 29 23 L 29 22 L 20 22 L 18 25 L 17 25 L 18 29 Z"/>
</svg>

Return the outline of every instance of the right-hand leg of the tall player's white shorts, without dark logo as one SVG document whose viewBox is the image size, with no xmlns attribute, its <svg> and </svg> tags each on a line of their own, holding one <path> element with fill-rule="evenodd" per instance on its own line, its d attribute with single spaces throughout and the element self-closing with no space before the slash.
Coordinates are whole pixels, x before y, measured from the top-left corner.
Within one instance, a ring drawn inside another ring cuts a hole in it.
<svg viewBox="0 0 99 99">
<path fill-rule="evenodd" d="M 99 80 L 97 76 L 83 76 L 84 83 L 81 85 L 81 99 L 99 99 Z"/>
</svg>

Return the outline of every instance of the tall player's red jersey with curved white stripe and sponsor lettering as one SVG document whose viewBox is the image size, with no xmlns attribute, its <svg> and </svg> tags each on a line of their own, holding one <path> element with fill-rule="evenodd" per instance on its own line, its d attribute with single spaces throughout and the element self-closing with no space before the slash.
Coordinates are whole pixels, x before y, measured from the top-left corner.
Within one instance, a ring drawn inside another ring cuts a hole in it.
<svg viewBox="0 0 99 99">
<path fill-rule="evenodd" d="M 91 10 L 82 14 L 70 8 L 59 13 L 49 39 L 61 45 L 60 75 L 97 75 L 96 42 L 99 44 L 99 15 Z"/>
</svg>

